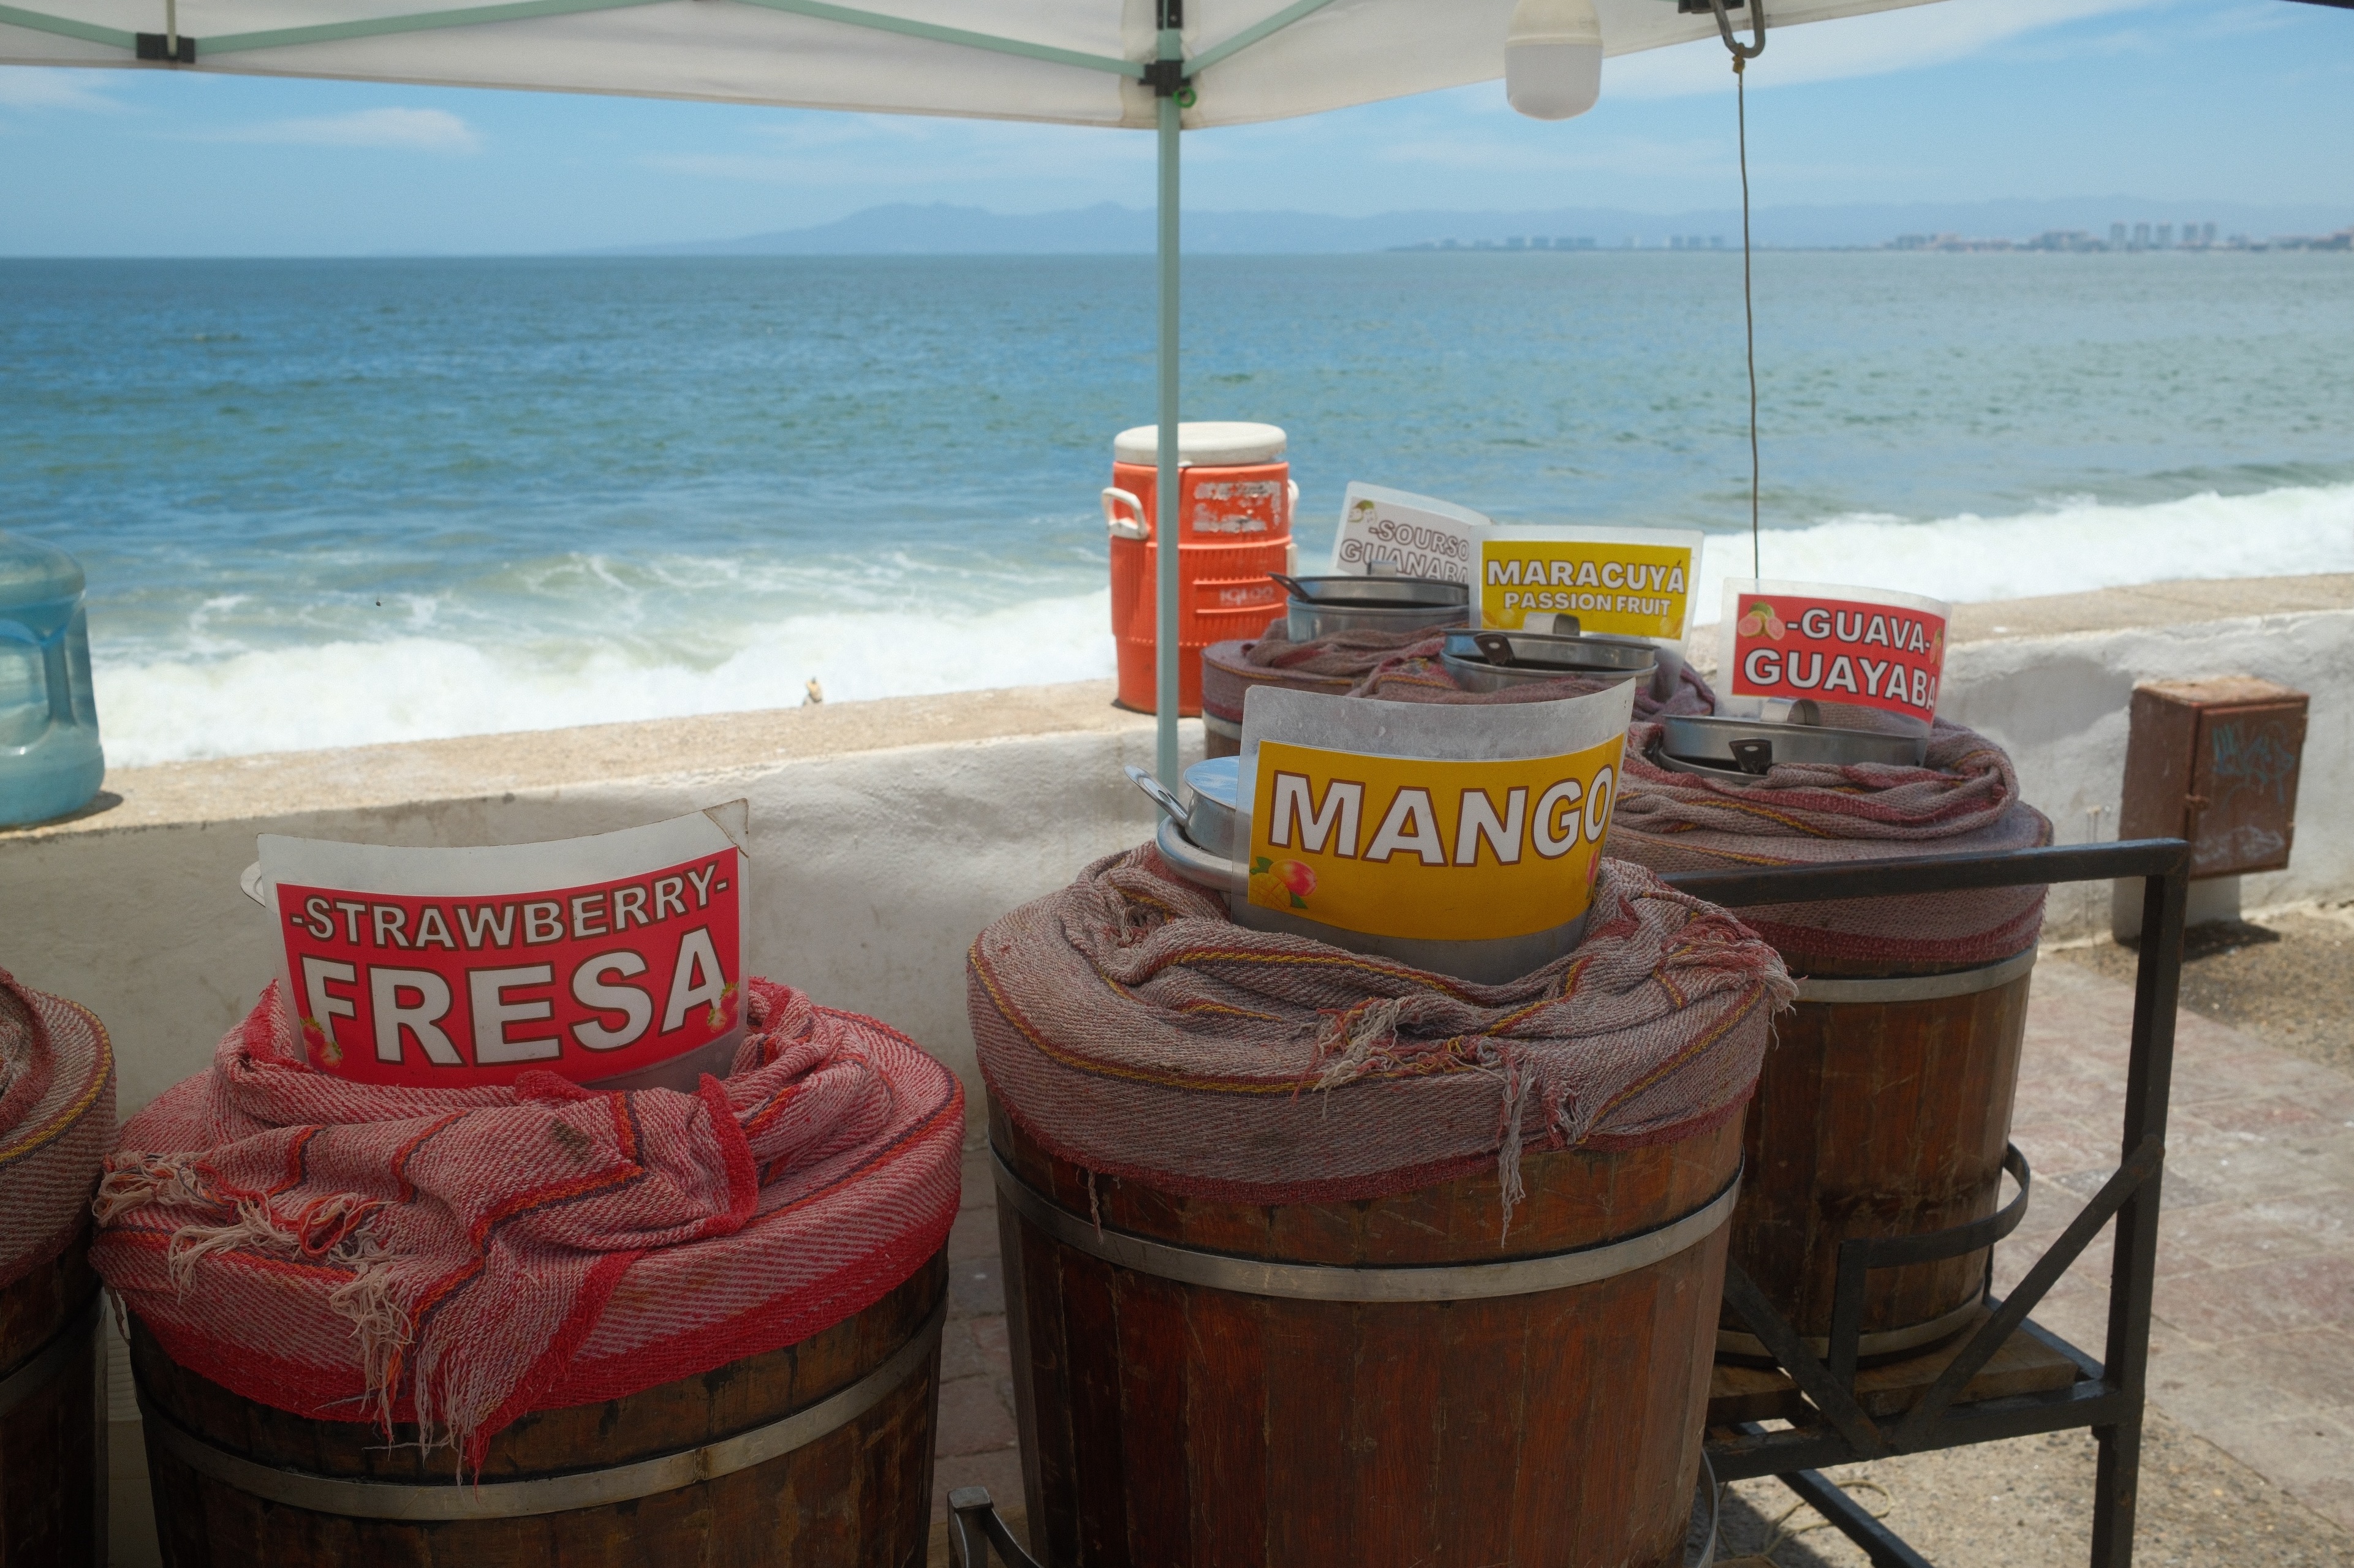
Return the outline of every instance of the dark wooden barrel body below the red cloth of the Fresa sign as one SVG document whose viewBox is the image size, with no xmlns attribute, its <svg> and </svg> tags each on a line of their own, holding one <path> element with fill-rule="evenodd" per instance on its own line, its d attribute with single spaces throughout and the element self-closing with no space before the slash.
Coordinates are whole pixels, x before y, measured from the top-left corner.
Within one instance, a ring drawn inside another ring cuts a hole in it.
<svg viewBox="0 0 2354 1568">
<path fill-rule="evenodd" d="M 932 1514 L 946 1253 L 866 1311 L 626 1398 L 537 1410 L 452 1455 L 386 1446 L 179 1368 L 137 1321 L 155 1526 L 172 1568 L 793 1563 L 916 1568 Z"/>
</svg>

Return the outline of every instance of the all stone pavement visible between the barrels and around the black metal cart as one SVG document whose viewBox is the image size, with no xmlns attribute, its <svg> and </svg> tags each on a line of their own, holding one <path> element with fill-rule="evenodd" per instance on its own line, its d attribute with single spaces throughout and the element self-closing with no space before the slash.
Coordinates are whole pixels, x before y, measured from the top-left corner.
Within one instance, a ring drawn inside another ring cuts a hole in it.
<svg viewBox="0 0 2354 1568">
<path fill-rule="evenodd" d="M 2013 1132 L 2036 1194 L 1996 1257 L 1999 1288 L 2116 1165 L 2130 1019 L 2121 982 L 2053 958 L 2036 968 Z M 2142 1561 L 2354 1563 L 2354 1078 L 2189 1010 L 2175 1029 Z M 1008 1511 L 1022 1507 L 991 1196 L 975 1142 L 949 1241 L 935 1516 L 958 1486 L 986 1486 Z M 2107 1260 L 2102 1236 L 2036 1311 L 2095 1356 Z M 1886 1488 L 1893 1523 L 1949 1568 L 2083 1561 L 2083 1434 L 1846 1474 Z M 1728 1516 L 1763 1533 L 1787 1500 L 1775 1483 L 1744 1483 Z M 935 1561 L 946 1561 L 944 1537 L 935 1537 Z M 1747 1561 L 1862 1556 L 1810 1533 Z"/>
</svg>

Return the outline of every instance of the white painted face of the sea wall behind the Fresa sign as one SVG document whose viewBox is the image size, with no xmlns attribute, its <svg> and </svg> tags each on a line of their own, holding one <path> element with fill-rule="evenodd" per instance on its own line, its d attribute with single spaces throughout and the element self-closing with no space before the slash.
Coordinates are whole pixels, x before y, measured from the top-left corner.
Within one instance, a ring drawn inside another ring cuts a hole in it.
<svg viewBox="0 0 2354 1568">
<path fill-rule="evenodd" d="M 1186 730 L 1201 756 L 1201 725 Z M 527 843 L 749 796 L 753 972 L 904 1029 L 977 1085 L 965 949 L 998 913 L 1151 836 L 1151 803 L 1121 772 L 1151 768 L 1151 751 L 1139 723 L 381 810 L 238 817 L 224 800 L 212 822 L 0 836 L 0 965 L 106 1022 L 129 1116 L 202 1071 L 275 972 L 271 923 L 238 890 L 257 833 Z"/>
</svg>

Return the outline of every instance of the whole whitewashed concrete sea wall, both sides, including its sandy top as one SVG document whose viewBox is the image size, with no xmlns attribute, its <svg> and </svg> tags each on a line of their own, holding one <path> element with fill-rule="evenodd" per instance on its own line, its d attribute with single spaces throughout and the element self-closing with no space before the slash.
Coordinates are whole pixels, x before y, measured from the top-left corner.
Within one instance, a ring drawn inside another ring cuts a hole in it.
<svg viewBox="0 0 2354 1568">
<path fill-rule="evenodd" d="M 2114 838 L 2133 685 L 2225 673 L 2314 699 L 2293 866 L 2241 899 L 2354 897 L 2354 577 L 1968 605 L 1944 711 L 2010 746 L 2064 843 Z M 129 1114 L 200 1071 L 275 968 L 238 890 L 257 833 L 520 843 L 744 796 L 753 972 L 897 1024 L 977 1088 L 965 946 L 1151 831 L 1121 777 L 1151 742 L 1080 683 L 120 770 L 97 810 L 0 833 L 0 965 L 97 1010 Z M 2050 935 L 2107 918 L 2107 890 L 2062 892 Z"/>
</svg>

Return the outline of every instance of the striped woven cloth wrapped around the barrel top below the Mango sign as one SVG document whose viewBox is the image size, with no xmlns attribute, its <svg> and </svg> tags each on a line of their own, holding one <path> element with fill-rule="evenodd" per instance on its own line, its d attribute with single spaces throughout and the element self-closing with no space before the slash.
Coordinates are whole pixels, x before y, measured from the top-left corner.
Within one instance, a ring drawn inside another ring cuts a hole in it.
<svg viewBox="0 0 2354 1568">
<path fill-rule="evenodd" d="M 1078 1165 L 1233 1203 L 1375 1198 L 1523 1144 L 1688 1137 L 1796 994 L 1730 913 L 1603 862 L 1577 951 L 1478 986 L 1226 918 L 1151 845 L 996 921 L 967 1008 L 1008 1116 Z"/>
</svg>

